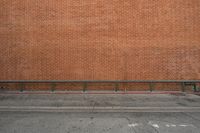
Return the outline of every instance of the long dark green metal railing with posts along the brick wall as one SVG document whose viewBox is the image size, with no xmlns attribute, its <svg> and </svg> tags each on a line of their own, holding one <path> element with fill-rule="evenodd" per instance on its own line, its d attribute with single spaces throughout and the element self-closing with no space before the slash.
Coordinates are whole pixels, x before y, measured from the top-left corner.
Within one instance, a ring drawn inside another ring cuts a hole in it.
<svg viewBox="0 0 200 133">
<path fill-rule="evenodd" d="M 147 83 L 149 84 L 149 90 L 154 90 L 154 85 L 156 83 L 178 83 L 181 85 L 181 90 L 184 92 L 186 86 L 192 86 L 193 91 L 199 91 L 200 89 L 200 80 L 0 80 L 1 84 L 12 84 L 18 83 L 20 84 L 20 91 L 23 91 L 25 85 L 27 83 L 51 83 L 51 90 L 54 91 L 56 89 L 56 85 L 59 83 L 82 83 L 82 90 L 85 92 L 87 90 L 87 86 L 90 83 L 113 83 L 114 90 L 119 90 L 120 83 Z"/>
</svg>

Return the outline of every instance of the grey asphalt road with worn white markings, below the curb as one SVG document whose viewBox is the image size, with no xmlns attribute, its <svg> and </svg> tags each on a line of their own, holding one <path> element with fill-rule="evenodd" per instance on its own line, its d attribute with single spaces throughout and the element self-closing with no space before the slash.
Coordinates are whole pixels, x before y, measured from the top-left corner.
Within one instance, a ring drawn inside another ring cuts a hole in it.
<svg viewBox="0 0 200 133">
<path fill-rule="evenodd" d="M 200 113 L 1 112 L 0 133 L 200 133 Z"/>
</svg>

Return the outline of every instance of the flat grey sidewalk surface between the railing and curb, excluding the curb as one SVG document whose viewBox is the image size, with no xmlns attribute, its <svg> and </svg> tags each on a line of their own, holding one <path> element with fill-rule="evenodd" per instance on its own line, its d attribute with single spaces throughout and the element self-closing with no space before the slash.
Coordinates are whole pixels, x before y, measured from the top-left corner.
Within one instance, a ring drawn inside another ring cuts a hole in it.
<svg viewBox="0 0 200 133">
<path fill-rule="evenodd" d="M 193 94 L 3 94 L 1 106 L 200 107 Z"/>
</svg>

